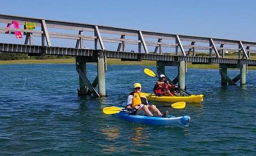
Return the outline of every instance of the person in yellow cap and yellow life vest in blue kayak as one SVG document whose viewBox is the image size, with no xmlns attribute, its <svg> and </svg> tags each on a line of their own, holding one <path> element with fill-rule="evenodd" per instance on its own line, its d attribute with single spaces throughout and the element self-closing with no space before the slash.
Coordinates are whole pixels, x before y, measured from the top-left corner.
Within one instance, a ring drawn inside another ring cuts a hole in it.
<svg viewBox="0 0 256 156">
<path fill-rule="evenodd" d="M 134 84 L 134 91 L 130 92 L 127 98 L 127 106 L 126 108 L 133 109 L 136 108 L 136 115 L 140 116 L 162 116 L 168 117 L 169 111 L 167 110 L 164 114 L 157 109 L 157 107 L 153 104 L 149 105 L 148 100 L 143 93 L 141 93 L 141 84 Z"/>
</svg>

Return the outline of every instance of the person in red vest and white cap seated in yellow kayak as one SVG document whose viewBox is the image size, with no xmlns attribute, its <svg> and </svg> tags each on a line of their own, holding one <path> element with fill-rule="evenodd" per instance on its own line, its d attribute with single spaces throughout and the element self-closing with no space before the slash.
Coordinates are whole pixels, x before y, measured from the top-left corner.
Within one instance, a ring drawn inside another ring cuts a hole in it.
<svg viewBox="0 0 256 156">
<path fill-rule="evenodd" d="M 158 96 L 180 96 L 175 90 L 177 86 L 169 84 L 169 81 L 165 81 L 165 75 L 161 74 L 160 79 L 157 80 L 154 86 L 154 93 Z"/>
</svg>

